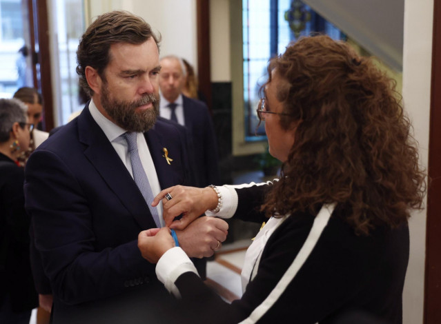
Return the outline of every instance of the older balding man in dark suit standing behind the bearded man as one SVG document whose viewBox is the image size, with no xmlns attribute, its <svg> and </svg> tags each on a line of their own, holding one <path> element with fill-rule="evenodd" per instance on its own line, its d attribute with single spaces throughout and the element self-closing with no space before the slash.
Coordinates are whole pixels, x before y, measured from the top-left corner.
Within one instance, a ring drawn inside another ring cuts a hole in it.
<svg viewBox="0 0 441 324">
<path fill-rule="evenodd" d="M 161 58 L 159 114 L 190 130 L 199 187 L 218 184 L 217 141 L 213 121 L 205 103 L 182 94 L 185 78 L 186 69 L 182 59 L 173 55 Z"/>
</svg>

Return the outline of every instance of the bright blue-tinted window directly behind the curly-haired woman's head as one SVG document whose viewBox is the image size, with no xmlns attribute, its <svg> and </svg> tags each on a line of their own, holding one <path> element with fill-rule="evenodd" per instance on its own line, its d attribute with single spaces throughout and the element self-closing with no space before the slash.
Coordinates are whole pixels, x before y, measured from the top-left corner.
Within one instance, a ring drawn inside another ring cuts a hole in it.
<svg viewBox="0 0 441 324">
<path fill-rule="evenodd" d="M 296 8 L 300 15 L 294 14 Z M 329 34 L 333 39 L 345 36 L 300 0 L 242 0 L 242 10 L 246 141 L 261 141 L 264 137 L 255 136 L 255 109 L 259 88 L 268 78 L 266 66 L 271 54 L 282 54 L 291 41 L 315 32 Z M 303 28 L 294 31 L 289 19 L 299 16 Z M 264 135 L 264 125 L 260 125 L 257 134 Z"/>
</svg>

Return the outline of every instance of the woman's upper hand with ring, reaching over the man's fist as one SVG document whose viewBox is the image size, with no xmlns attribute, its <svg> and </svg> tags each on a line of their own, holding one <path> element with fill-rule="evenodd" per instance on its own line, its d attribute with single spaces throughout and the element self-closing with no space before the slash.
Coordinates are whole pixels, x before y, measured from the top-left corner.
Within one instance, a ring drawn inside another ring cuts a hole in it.
<svg viewBox="0 0 441 324">
<path fill-rule="evenodd" d="M 166 194 L 170 194 L 172 198 L 167 200 Z M 215 209 L 217 206 L 217 194 L 209 187 L 194 188 L 175 185 L 159 192 L 153 200 L 152 206 L 157 206 L 161 199 L 166 226 L 176 230 L 184 230 L 189 223 L 204 214 L 206 210 Z M 175 220 L 175 217 L 179 215 L 182 215 L 182 218 Z"/>
</svg>

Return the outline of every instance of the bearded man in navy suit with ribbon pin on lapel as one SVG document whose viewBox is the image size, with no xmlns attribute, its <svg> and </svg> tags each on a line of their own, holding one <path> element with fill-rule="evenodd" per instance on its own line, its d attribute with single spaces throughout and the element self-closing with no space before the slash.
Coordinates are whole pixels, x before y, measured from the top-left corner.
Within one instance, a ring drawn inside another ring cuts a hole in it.
<svg viewBox="0 0 441 324">
<path fill-rule="evenodd" d="M 179 312 L 137 248 L 164 226 L 161 188 L 193 183 L 179 130 L 157 121 L 159 40 L 128 12 L 97 17 L 77 73 L 91 101 L 30 156 L 26 210 L 54 298 L 52 323 L 174 323 Z M 189 256 L 210 256 L 228 225 L 202 217 L 177 232 Z"/>
</svg>

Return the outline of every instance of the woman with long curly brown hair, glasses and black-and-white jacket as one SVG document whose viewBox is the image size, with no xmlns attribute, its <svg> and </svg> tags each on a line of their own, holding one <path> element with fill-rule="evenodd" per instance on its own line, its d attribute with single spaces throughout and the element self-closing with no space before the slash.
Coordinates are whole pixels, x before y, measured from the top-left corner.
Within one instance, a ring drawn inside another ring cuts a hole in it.
<svg viewBox="0 0 441 324">
<path fill-rule="evenodd" d="M 407 220 L 425 177 L 393 81 L 325 36 L 288 46 L 268 74 L 257 114 L 280 179 L 163 190 L 154 204 L 162 199 L 169 227 L 141 232 L 141 253 L 193 323 L 343 323 L 351 314 L 351 323 L 402 323 Z M 231 304 L 204 287 L 170 236 L 206 210 L 266 221 Z"/>
</svg>

